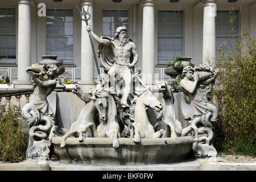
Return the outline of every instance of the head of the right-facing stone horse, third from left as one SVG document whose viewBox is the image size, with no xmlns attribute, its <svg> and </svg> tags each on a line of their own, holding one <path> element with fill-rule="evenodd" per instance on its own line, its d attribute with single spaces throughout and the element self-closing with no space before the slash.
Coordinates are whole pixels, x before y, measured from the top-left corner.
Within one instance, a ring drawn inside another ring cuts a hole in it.
<svg viewBox="0 0 256 182">
<path fill-rule="evenodd" d="M 162 104 L 155 98 L 151 88 L 148 88 L 146 92 L 143 92 L 141 99 L 145 106 L 150 107 L 155 111 L 160 111 L 162 109 Z"/>
</svg>

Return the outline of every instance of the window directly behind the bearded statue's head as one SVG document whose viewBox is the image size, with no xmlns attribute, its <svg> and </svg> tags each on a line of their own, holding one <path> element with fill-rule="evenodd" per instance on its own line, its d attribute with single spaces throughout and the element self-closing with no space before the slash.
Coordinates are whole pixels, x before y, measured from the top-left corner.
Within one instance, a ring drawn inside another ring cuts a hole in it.
<svg viewBox="0 0 256 182">
<path fill-rule="evenodd" d="M 102 22 L 104 36 L 114 38 L 115 30 L 123 25 L 128 30 L 126 36 L 129 36 L 129 11 L 104 10 Z"/>
</svg>

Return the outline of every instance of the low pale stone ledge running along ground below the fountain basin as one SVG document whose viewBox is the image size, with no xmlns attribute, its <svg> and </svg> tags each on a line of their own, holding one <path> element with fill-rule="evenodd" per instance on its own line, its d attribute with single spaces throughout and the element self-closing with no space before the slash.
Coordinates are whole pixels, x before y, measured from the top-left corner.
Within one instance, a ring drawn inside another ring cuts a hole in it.
<svg viewBox="0 0 256 182">
<path fill-rule="evenodd" d="M 224 163 L 221 159 L 207 158 L 171 164 L 85 165 L 28 159 L 0 164 L 0 171 L 256 171 L 256 163 Z"/>
</svg>

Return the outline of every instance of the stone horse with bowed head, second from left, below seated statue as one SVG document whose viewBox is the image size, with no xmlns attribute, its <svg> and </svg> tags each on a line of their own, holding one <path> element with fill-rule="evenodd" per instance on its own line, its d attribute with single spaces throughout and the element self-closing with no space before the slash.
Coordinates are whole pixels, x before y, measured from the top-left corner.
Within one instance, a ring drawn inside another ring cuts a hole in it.
<svg viewBox="0 0 256 182">
<path fill-rule="evenodd" d="M 94 106 L 98 110 L 100 125 L 95 130 L 95 125 L 89 123 L 82 128 L 79 140 L 85 138 L 85 133 L 88 128 L 94 130 L 95 137 L 108 137 L 113 138 L 113 147 L 119 147 L 118 137 L 123 130 L 123 122 L 121 112 L 118 108 L 121 106 L 121 102 L 117 97 L 117 93 L 109 93 L 108 89 L 100 88 L 93 90 L 93 96 L 90 97 Z M 117 104 L 116 104 L 117 103 Z M 120 114 L 120 115 L 119 115 Z"/>
</svg>

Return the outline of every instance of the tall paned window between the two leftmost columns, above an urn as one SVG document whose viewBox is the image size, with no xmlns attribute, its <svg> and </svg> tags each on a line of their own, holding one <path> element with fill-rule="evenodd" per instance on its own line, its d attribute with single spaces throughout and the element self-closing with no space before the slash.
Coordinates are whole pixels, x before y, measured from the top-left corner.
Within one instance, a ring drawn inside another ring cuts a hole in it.
<svg viewBox="0 0 256 182">
<path fill-rule="evenodd" d="M 73 64 L 73 10 L 47 10 L 46 53 Z"/>
</svg>

